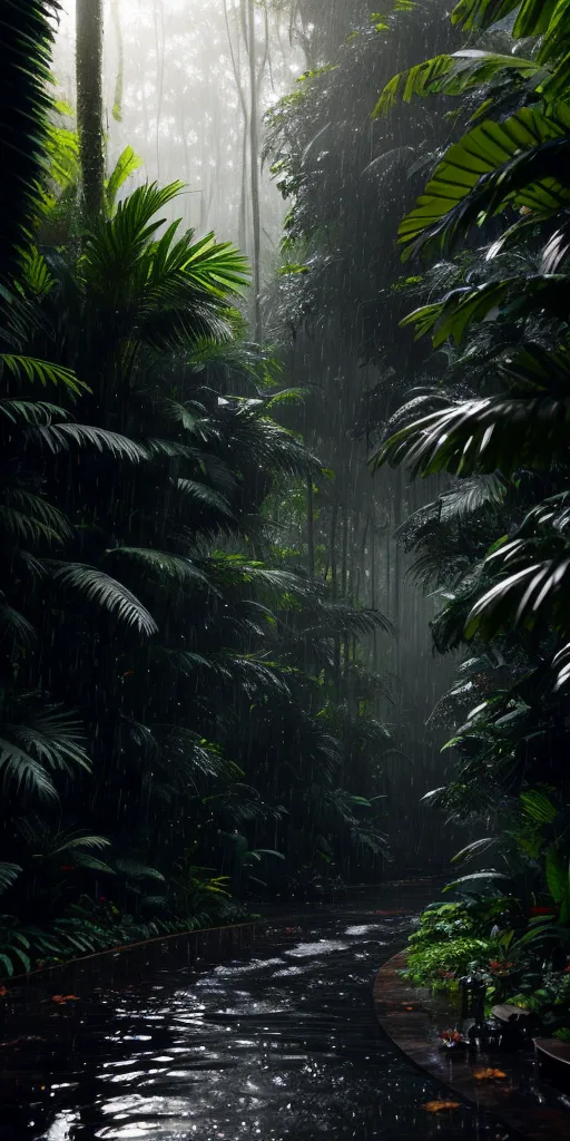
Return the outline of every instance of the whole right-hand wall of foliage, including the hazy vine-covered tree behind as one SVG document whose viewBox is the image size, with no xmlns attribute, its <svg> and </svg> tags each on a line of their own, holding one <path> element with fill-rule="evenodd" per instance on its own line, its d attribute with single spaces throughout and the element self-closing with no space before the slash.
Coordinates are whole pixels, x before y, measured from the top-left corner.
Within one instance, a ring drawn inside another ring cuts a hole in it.
<svg viewBox="0 0 570 1141">
<path fill-rule="evenodd" d="M 392 515 L 440 600 L 434 652 L 461 662 L 431 719 L 453 734 L 448 779 L 425 800 L 475 839 L 409 973 L 454 990 L 477 971 L 489 1003 L 565 1038 L 570 10 L 404 0 L 356 16 L 271 113 L 267 146 L 290 203 L 277 307 L 293 359 L 318 353 L 317 330 L 375 366 L 350 391 L 331 377 L 335 455 L 350 424 L 380 477 L 432 487 L 410 510 L 400 485 Z"/>
</svg>

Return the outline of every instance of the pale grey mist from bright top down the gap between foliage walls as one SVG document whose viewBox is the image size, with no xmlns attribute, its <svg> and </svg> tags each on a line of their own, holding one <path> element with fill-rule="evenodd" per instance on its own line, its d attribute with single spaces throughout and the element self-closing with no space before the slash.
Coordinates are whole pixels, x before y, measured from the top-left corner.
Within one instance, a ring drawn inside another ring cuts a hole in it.
<svg viewBox="0 0 570 1141">
<path fill-rule="evenodd" d="M 70 111 L 75 90 L 73 7 L 67 3 L 60 15 L 54 58 L 56 81 Z M 312 321 L 312 327 L 311 321 L 295 326 L 283 304 L 280 283 L 286 278 L 280 274 L 291 256 L 282 251 L 280 243 L 291 203 L 284 201 L 271 170 L 275 154 L 262 156 L 268 112 L 284 97 L 295 99 L 299 78 L 329 56 L 334 58 L 355 22 L 368 18 L 358 5 L 350 6 L 350 14 L 343 13 L 342 5 L 332 5 L 326 19 L 317 25 L 318 2 L 312 7 L 315 23 L 311 5 L 107 0 L 107 167 L 112 170 L 123 148 L 132 146 L 141 164 L 122 193 L 146 180 L 165 184 L 180 179 L 186 189 L 165 216 L 181 216 L 184 225 L 198 236 L 213 230 L 218 240 L 236 243 L 254 266 L 253 294 L 245 302 L 251 337 L 275 346 L 286 382 L 309 393 L 303 413 L 294 412 L 287 422 L 302 432 L 325 468 L 334 470 L 333 482 L 320 488 L 315 504 L 316 542 L 324 552 L 320 573 L 326 575 L 329 564 L 339 600 L 377 608 L 394 626 L 392 637 L 375 636 L 364 653 L 367 667 L 378 678 L 376 713 L 393 738 L 386 808 L 389 816 L 398 809 L 398 826 L 391 828 L 391 840 L 397 857 L 414 859 L 421 850 L 438 855 L 439 839 L 421 796 L 440 783 L 445 767 L 439 756 L 445 729 L 438 727 L 432 712 L 454 669 L 449 659 L 433 656 L 429 622 L 435 602 L 409 581 L 406 555 L 397 537 L 409 511 L 425 502 L 425 492 L 408 487 L 400 472 L 383 472 L 374 479 L 368 470 L 369 434 L 361 430 L 361 423 L 368 394 L 380 383 L 383 365 L 369 356 L 363 359 L 358 333 L 361 313 L 353 314 L 355 333 L 340 348 L 334 314 L 332 323 L 325 314 Z M 252 9 L 253 34 L 247 22 Z M 361 78 L 366 79 L 366 72 Z M 347 151 L 333 151 L 340 168 L 353 161 L 349 147 L 351 99 L 359 107 L 358 114 L 363 106 L 360 132 L 369 132 L 368 105 L 372 107 L 374 90 L 368 90 L 367 79 L 365 90 L 359 76 L 357 83 L 345 90 Z M 374 151 L 374 143 L 370 145 Z M 253 162 L 252 147 L 256 152 Z M 308 141 L 309 152 L 317 167 L 323 164 L 325 181 L 319 193 L 334 199 L 334 181 L 326 184 L 331 139 L 320 124 Z M 377 229 L 378 225 L 381 216 L 370 216 L 370 227 Z M 340 261 L 341 291 L 343 273 Z M 375 288 L 374 282 L 369 288 Z M 258 310 L 253 300 L 256 291 Z M 319 305 L 317 286 L 317 310 Z M 288 515 L 285 526 L 290 542 L 302 545 L 304 520 L 298 531 L 292 529 Z"/>
</svg>

